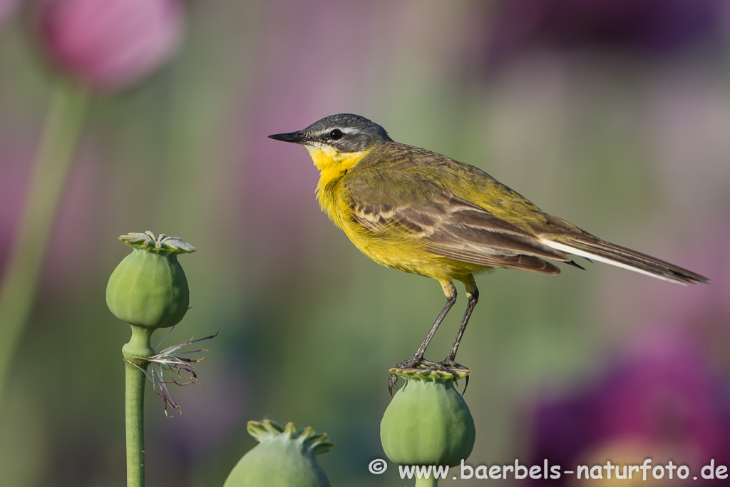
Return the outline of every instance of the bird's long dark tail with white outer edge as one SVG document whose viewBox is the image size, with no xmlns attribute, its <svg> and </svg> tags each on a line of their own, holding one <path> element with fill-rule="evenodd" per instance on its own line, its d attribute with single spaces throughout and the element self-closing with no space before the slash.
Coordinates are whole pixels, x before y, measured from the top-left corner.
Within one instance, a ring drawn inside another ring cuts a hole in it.
<svg viewBox="0 0 730 487">
<path fill-rule="evenodd" d="M 669 264 L 669 262 L 648 256 L 645 253 L 621 247 L 621 245 L 606 242 L 598 237 L 593 237 L 591 234 L 546 235 L 540 239 L 540 242 L 561 252 L 604 262 L 612 266 L 623 267 L 623 269 L 668 280 L 671 283 L 682 285 L 709 284 L 710 281 L 707 277 L 688 269 Z"/>
</svg>

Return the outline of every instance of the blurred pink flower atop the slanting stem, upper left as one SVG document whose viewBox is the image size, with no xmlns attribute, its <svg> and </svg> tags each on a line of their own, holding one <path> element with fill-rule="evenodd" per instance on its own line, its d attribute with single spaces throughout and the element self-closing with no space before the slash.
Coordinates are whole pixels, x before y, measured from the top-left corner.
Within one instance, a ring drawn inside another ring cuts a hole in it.
<svg viewBox="0 0 730 487">
<path fill-rule="evenodd" d="M 53 61 L 91 88 L 110 91 L 172 57 L 185 10 L 182 0 L 42 0 L 38 15 Z"/>
</svg>

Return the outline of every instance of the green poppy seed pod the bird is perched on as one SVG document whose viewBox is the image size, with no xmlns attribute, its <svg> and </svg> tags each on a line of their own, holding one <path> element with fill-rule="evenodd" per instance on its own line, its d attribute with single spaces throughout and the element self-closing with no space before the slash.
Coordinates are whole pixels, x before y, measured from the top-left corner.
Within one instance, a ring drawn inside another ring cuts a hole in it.
<svg viewBox="0 0 730 487">
<path fill-rule="evenodd" d="M 385 455 L 399 465 L 461 464 L 472 453 L 476 429 L 454 380 L 469 372 L 394 370 L 406 380 L 380 422 Z"/>
</svg>

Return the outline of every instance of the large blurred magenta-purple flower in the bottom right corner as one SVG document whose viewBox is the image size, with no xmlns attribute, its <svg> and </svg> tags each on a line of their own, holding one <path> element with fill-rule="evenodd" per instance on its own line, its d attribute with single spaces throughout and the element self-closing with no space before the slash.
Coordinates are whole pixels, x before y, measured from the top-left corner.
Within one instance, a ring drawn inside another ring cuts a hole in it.
<svg viewBox="0 0 730 487">
<path fill-rule="evenodd" d="M 686 464 L 699 472 L 710 459 L 730 460 L 730 411 L 723 384 L 693 334 L 669 326 L 637 340 L 590 388 L 539 404 L 532 464 Z M 569 483 L 564 476 L 556 482 Z"/>
</svg>

